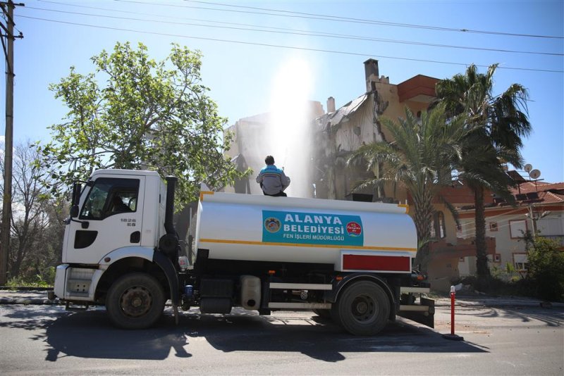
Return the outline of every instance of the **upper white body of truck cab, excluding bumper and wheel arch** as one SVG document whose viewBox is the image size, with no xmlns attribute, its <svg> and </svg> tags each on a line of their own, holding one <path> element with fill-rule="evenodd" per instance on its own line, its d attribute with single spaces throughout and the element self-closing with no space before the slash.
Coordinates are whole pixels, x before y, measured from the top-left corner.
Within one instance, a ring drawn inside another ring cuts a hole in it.
<svg viewBox="0 0 564 376">
<path fill-rule="evenodd" d="M 97 170 L 80 194 L 78 216 L 66 227 L 63 263 L 97 265 L 118 249 L 152 251 L 164 234 L 164 192 L 152 171 Z"/>
</svg>

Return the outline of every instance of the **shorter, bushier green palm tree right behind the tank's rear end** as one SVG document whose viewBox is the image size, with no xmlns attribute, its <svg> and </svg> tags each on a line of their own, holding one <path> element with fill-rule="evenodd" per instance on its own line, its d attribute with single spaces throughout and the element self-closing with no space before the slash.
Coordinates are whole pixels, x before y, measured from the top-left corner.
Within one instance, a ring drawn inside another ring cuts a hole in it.
<svg viewBox="0 0 564 376">
<path fill-rule="evenodd" d="M 452 184 L 450 168 L 460 160 L 460 139 L 468 132 L 464 121 L 452 118 L 449 122 L 447 125 L 445 106 L 442 105 L 423 113 L 420 121 L 409 108 L 405 108 L 405 119 L 399 118 L 397 123 L 381 118 L 381 123 L 391 132 L 393 142 L 363 145 L 348 158 L 348 163 L 366 161 L 367 170 L 383 163 L 381 176 L 360 182 L 356 189 L 391 183 L 393 189 L 400 185 L 411 195 L 419 242 L 415 263 L 420 265 L 422 272 L 427 272 L 429 263 L 433 199 L 443 187 Z M 445 203 L 454 211 L 453 206 Z"/>
</svg>

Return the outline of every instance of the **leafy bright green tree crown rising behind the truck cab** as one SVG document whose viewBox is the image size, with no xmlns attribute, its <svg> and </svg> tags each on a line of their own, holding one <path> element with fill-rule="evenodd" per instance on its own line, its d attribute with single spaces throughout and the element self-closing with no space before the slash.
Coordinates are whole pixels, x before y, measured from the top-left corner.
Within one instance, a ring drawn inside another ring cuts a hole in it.
<svg viewBox="0 0 564 376">
<path fill-rule="evenodd" d="M 177 199 L 186 203 L 197 198 L 201 182 L 217 189 L 242 176 L 223 156 L 231 136 L 221 139 L 226 119 L 201 83 L 201 58 L 172 44 L 157 62 L 143 44 L 117 43 L 111 54 L 92 57 L 95 74 L 71 67 L 51 84 L 68 107 L 65 122 L 50 127 L 53 141 L 38 146 L 59 182 L 54 192 L 97 168 L 149 169 L 179 177 Z"/>
</svg>

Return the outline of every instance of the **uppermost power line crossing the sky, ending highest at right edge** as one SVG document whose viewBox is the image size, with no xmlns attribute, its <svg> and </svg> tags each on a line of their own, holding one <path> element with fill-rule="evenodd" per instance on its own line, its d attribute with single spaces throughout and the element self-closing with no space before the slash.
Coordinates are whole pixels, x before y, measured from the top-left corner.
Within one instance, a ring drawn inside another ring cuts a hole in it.
<svg viewBox="0 0 564 376">
<path fill-rule="evenodd" d="M 133 0 L 115 0 L 115 1 L 121 1 L 121 2 L 124 2 L 124 3 L 147 4 L 146 2 L 143 2 L 143 1 L 133 1 Z M 464 28 L 458 29 L 458 28 L 453 28 L 453 27 L 415 25 L 415 24 L 408 24 L 408 23 L 391 23 L 391 22 L 379 21 L 379 20 L 367 20 L 367 19 L 363 19 L 363 18 L 348 18 L 348 17 L 341 17 L 341 16 L 338 16 L 338 15 L 323 15 L 323 14 L 317 14 L 317 13 L 281 11 L 281 10 L 271 9 L 271 8 L 257 8 L 257 7 L 252 7 L 252 6 L 237 6 L 237 5 L 233 5 L 233 4 L 221 4 L 221 3 L 213 3 L 213 2 L 209 2 L 209 1 L 195 1 L 195 0 L 185 0 L 185 1 L 190 1 L 190 2 L 193 2 L 193 3 L 200 3 L 200 4 L 211 4 L 211 5 L 216 5 L 216 6 L 228 6 L 228 7 L 232 7 L 232 8 L 255 9 L 255 10 L 259 10 L 259 12 L 257 12 L 257 11 L 237 11 L 237 10 L 233 10 L 233 9 L 207 8 L 207 7 L 204 7 L 204 6 L 189 6 L 189 5 L 176 5 L 176 4 L 159 4 L 159 6 L 173 6 L 173 7 L 176 7 L 176 8 L 204 9 L 204 10 L 208 10 L 208 11 L 223 11 L 223 12 L 234 12 L 234 13 L 274 15 L 274 16 L 278 16 L 278 17 L 307 18 L 307 19 L 313 19 L 313 20 L 329 20 L 329 21 L 346 22 L 346 23 L 364 23 L 364 24 L 383 25 L 383 26 L 409 27 L 409 28 L 448 31 L 448 32 L 467 32 L 467 33 L 488 34 L 488 35 L 503 35 L 503 36 L 508 36 L 508 37 L 534 37 L 534 38 L 546 38 L 546 39 L 564 39 L 564 37 L 553 36 L 553 35 L 517 34 L 517 33 L 511 33 L 511 32 L 494 32 L 494 31 L 484 31 L 484 30 L 470 30 L 470 29 L 464 29 Z M 269 12 L 279 12 L 279 13 L 286 13 L 286 14 L 276 14 L 276 13 L 269 13 Z"/>
</svg>

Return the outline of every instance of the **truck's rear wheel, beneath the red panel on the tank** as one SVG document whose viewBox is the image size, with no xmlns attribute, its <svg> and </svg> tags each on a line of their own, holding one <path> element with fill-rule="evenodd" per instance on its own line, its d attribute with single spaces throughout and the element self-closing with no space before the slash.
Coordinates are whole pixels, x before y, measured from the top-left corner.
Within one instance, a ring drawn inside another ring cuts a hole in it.
<svg viewBox="0 0 564 376">
<path fill-rule="evenodd" d="M 384 289 L 369 281 L 353 282 L 333 304 L 331 316 L 347 332 L 371 336 L 386 326 L 390 301 Z"/>
</svg>

